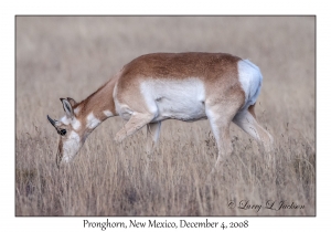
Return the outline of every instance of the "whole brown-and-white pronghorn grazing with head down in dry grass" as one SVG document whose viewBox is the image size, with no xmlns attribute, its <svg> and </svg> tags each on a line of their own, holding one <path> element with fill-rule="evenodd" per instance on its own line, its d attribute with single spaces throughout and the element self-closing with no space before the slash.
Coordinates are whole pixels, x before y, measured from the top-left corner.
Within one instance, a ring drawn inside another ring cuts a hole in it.
<svg viewBox="0 0 331 232">
<path fill-rule="evenodd" d="M 255 64 L 231 54 L 139 56 L 81 103 L 61 98 L 65 116 L 60 120 L 47 115 L 61 135 L 56 164 L 71 161 L 102 122 L 118 115 L 127 123 L 115 140 L 119 143 L 147 125 L 149 151 L 159 139 L 162 120 L 205 118 L 217 143 L 216 165 L 232 152 L 231 122 L 270 150 L 273 137 L 258 125 L 254 113 L 261 81 Z"/>
</svg>

